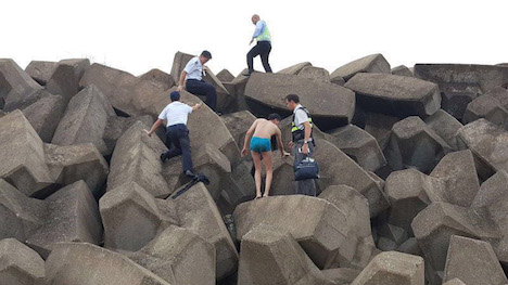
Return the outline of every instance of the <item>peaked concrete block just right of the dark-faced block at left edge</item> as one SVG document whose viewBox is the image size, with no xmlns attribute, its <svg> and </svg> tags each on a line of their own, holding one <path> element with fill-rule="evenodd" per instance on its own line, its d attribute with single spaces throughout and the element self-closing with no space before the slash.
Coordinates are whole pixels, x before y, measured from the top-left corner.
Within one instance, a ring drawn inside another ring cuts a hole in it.
<svg viewBox="0 0 508 285">
<path fill-rule="evenodd" d="M 106 96 L 94 86 L 76 94 L 56 128 L 51 143 L 72 145 L 92 143 L 103 154 L 111 154 L 104 142 L 104 129 L 110 117 L 115 116 Z"/>
</svg>

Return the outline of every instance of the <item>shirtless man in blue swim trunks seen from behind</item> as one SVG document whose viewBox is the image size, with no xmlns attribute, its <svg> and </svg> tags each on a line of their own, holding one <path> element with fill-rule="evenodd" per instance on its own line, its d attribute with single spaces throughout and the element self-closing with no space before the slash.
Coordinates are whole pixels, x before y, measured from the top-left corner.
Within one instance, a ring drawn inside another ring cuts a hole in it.
<svg viewBox="0 0 508 285">
<path fill-rule="evenodd" d="M 265 194 L 263 195 L 263 197 L 267 197 L 270 193 L 271 179 L 274 173 L 270 143 L 270 139 L 272 135 L 277 137 L 277 143 L 279 145 L 281 156 L 290 155 L 289 153 L 284 152 L 280 129 L 278 127 L 280 121 L 281 117 L 278 114 L 270 114 L 267 119 L 256 119 L 252 124 L 251 128 L 249 128 L 249 131 L 245 135 L 245 143 L 243 144 L 242 157 L 246 155 L 247 150 L 251 150 L 252 158 L 254 160 L 254 167 L 256 169 L 256 173 L 254 176 L 256 180 L 256 198 L 262 197 L 262 158 L 263 161 L 265 161 L 266 168 Z"/>
</svg>

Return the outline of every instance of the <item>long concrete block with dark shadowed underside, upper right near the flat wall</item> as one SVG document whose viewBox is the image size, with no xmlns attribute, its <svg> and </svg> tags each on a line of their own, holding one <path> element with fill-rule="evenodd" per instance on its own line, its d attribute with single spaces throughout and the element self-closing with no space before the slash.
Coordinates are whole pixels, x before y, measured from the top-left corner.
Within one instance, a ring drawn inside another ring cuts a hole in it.
<svg viewBox="0 0 508 285">
<path fill-rule="evenodd" d="M 394 116 L 427 117 L 441 108 L 437 85 L 407 76 L 357 74 L 345 86 L 366 111 Z"/>
</svg>

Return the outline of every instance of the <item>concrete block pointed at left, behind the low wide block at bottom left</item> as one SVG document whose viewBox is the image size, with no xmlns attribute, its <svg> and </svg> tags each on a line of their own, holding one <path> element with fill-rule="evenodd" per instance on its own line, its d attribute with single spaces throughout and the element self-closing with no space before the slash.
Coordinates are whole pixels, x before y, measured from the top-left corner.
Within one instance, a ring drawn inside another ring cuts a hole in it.
<svg viewBox="0 0 508 285">
<path fill-rule="evenodd" d="M 170 284 L 215 284 L 215 247 L 179 226 L 169 226 L 128 257 Z"/>
</svg>

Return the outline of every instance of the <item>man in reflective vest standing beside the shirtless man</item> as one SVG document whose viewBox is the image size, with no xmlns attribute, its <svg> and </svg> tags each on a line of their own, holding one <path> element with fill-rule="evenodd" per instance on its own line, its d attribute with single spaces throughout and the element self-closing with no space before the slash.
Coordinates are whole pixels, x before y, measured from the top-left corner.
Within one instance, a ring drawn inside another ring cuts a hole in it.
<svg viewBox="0 0 508 285">
<path fill-rule="evenodd" d="M 293 121 L 291 122 L 292 141 L 289 147 L 293 150 L 294 161 L 302 161 L 305 156 L 314 154 L 313 119 L 307 109 L 300 104 L 300 98 L 295 94 L 285 96 L 285 105 L 293 111 Z M 316 184 L 314 179 L 295 181 L 295 194 L 316 196 Z"/>
</svg>

